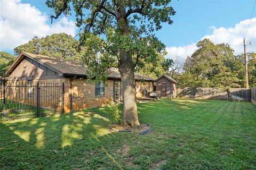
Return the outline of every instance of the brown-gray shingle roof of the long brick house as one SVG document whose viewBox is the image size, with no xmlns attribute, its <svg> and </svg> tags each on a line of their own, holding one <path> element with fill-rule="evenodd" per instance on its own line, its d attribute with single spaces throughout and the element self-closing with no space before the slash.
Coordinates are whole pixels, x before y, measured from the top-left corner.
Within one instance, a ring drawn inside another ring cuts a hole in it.
<svg viewBox="0 0 256 170">
<path fill-rule="evenodd" d="M 31 54 L 31 53 L 25 53 L 22 52 L 19 57 L 14 61 L 14 63 L 11 65 L 9 70 L 6 72 L 7 74 L 10 74 L 10 72 L 17 66 L 20 60 L 24 56 L 27 56 L 38 63 L 41 63 L 50 69 L 61 73 L 63 75 L 80 75 L 80 76 L 86 76 L 87 66 L 85 66 L 82 62 L 72 61 L 72 60 L 66 60 L 63 58 L 55 58 L 55 57 L 49 57 L 45 55 L 37 55 L 37 54 Z M 114 78 L 114 79 L 121 79 L 121 75 L 118 71 L 118 69 L 111 68 L 109 69 L 110 74 L 108 75 L 108 78 Z M 154 79 L 151 79 L 149 77 L 145 77 L 143 75 L 134 74 L 135 80 L 144 79 L 146 81 L 153 81 Z"/>
</svg>

